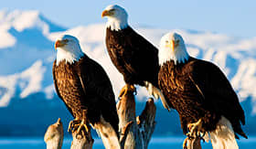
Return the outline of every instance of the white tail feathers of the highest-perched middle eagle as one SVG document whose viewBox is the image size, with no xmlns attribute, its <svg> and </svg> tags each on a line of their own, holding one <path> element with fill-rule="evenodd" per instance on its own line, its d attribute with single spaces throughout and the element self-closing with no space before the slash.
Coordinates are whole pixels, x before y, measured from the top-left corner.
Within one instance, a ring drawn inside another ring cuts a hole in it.
<svg viewBox="0 0 256 149">
<path fill-rule="evenodd" d="M 165 109 L 167 109 L 170 112 L 170 107 L 167 104 L 167 101 L 165 100 L 165 96 L 163 95 L 162 91 L 157 89 L 152 83 L 145 81 L 145 88 L 148 91 L 148 93 L 152 96 L 154 96 L 155 99 L 159 99 L 162 101 L 163 106 Z"/>
</svg>

